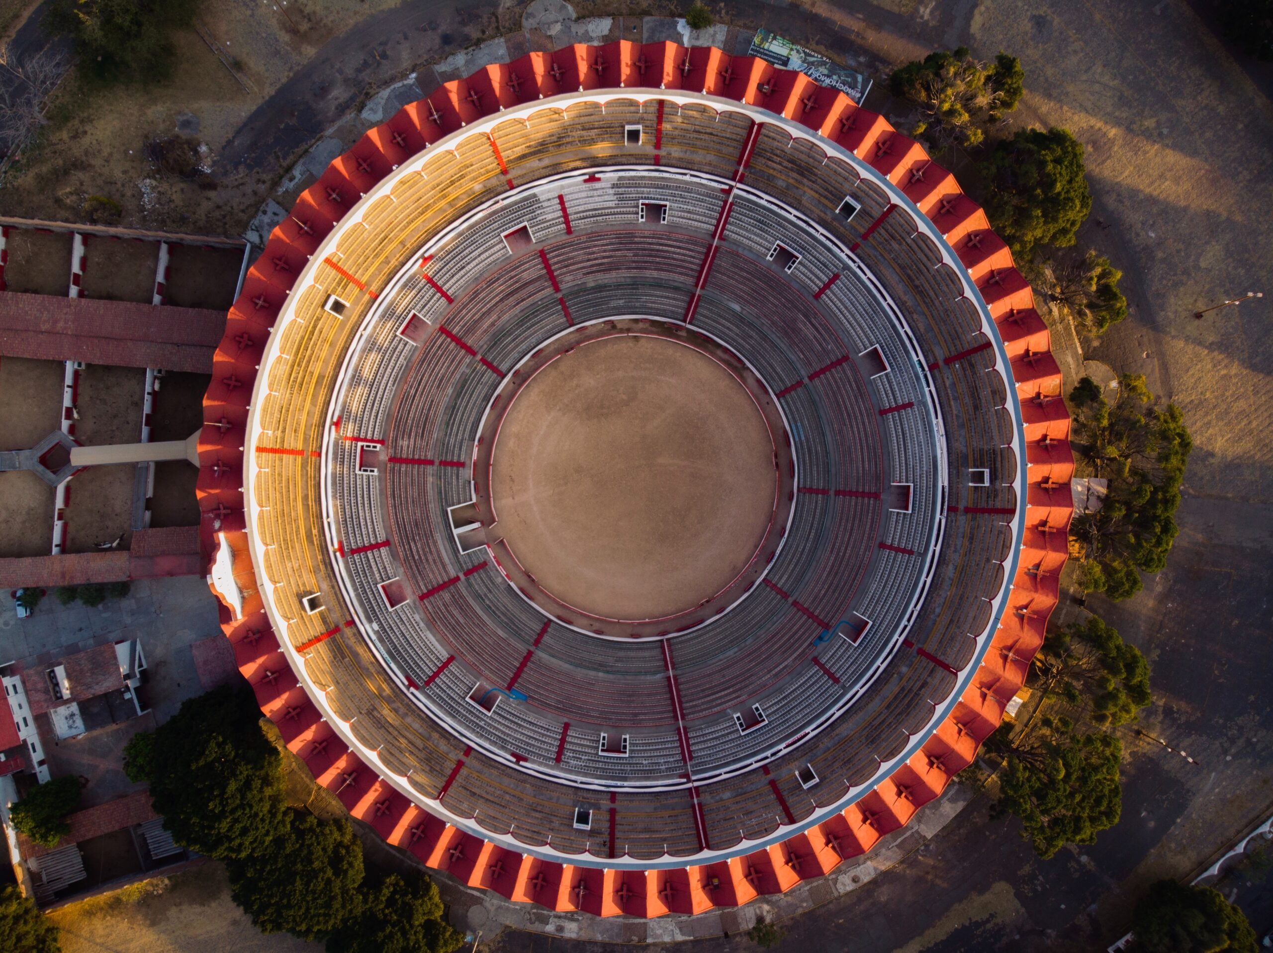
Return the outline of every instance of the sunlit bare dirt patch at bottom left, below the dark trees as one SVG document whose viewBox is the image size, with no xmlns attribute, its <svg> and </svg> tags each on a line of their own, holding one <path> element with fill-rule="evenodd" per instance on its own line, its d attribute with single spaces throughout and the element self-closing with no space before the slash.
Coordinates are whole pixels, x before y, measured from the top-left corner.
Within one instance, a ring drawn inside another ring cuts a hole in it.
<svg viewBox="0 0 1273 953">
<path fill-rule="evenodd" d="M 71 903 L 48 915 L 62 953 L 302 953 L 322 949 L 258 931 L 230 900 L 225 868 L 209 861 L 172 877 Z"/>
</svg>

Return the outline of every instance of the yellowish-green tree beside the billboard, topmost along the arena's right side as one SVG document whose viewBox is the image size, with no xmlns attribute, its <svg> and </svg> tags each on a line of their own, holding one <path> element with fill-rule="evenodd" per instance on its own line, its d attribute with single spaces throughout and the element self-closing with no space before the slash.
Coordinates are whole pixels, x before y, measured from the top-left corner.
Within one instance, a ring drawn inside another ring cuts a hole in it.
<svg viewBox="0 0 1273 953">
<path fill-rule="evenodd" d="M 998 122 L 1003 113 L 1017 108 L 1023 80 L 1017 57 L 1001 52 L 987 64 L 961 46 L 894 70 L 889 88 L 919 107 L 923 118 L 913 135 L 937 146 L 974 146 L 985 139 L 984 123 Z"/>
</svg>

